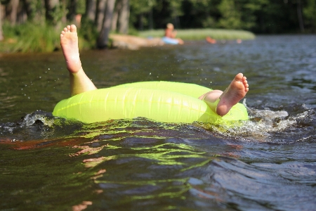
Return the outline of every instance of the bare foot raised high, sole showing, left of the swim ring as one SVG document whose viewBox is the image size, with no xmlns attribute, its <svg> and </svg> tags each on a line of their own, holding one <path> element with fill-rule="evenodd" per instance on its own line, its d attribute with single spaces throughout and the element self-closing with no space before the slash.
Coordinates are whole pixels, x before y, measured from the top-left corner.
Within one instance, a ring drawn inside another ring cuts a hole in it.
<svg viewBox="0 0 316 211">
<path fill-rule="evenodd" d="M 75 25 L 67 25 L 60 34 L 60 46 L 64 53 L 67 69 L 71 73 L 77 73 L 81 69 L 79 58 L 78 35 Z"/>
</svg>

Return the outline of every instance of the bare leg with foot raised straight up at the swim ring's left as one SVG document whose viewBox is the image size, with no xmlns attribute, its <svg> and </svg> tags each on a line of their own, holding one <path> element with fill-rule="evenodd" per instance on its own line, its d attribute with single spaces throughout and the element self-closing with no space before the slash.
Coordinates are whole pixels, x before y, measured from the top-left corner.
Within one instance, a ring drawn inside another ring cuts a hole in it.
<svg viewBox="0 0 316 211">
<path fill-rule="evenodd" d="M 60 45 L 64 54 L 67 69 L 70 72 L 70 91 L 72 96 L 85 91 L 97 89 L 82 69 L 79 57 L 77 27 L 67 25 L 60 34 Z"/>
</svg>

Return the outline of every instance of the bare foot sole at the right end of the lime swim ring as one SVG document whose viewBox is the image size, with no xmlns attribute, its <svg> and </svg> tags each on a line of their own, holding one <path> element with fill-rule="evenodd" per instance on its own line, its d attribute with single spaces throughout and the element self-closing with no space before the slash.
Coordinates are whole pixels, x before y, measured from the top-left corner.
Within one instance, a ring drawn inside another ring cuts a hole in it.
<svg viewBox="0 0 316 211">
<path fill-rule="evenodd" d="M 216 113 L 220 116 L 227 114 L 232 106 L 235 106 L 249 90 L 246 77 L 238 73 L 232 80 L 230 86 L 220 96 L 220 101 L 216 108 Z"/>
</svg>

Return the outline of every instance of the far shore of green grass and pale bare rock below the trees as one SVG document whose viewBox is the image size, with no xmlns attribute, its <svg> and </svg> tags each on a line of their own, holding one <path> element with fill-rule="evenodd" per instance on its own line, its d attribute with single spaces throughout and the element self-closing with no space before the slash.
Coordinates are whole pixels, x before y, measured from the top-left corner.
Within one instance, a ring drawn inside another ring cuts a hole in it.
<svg viewBox="0 0 316 211">
<path fill-rule="evenodd" d="M 26 25 L 21 27 L 20 34 L 10 32 L 6 29 L 4 40 L 0 41 L 0 53 L 27 53 L 27 52 L 52 52 L 59 51 L 59 36 L 53 28 L 46 27 L 46 29 L 38 30 L 33 25 Z M 14 30 L 11 30 L 14 31 Z M 211 37 L 213 40 L 246 40 L 255 39 L 252 32 L 243 30 L 219 30 L 219 29 L 191 29 L 191 30 L 177 30 L 177 37 L 184 41 L 206 40 L 206 37 Z M 52 34 L 56 34 L 52 36 Z M 164 42 L 162 37 L 164 30 L 147 30 L 136 32 L 133 35 L 126 34 L 110 34 L 108 48 L 131 49 L 137 50 L 141 47 L 147 46 L 162 46 Z M 95 49 L 96 39 L 90 37 L 79 37 L 79 47 L 82 49 Z"/>
</svg>

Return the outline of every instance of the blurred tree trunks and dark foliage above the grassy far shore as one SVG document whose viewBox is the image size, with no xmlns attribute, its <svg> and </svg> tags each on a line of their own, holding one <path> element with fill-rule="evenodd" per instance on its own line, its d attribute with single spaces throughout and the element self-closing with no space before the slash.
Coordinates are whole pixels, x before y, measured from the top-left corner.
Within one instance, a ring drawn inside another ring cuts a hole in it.
<svg viewBox="0 0 316 211">
<path fill-rule="evenodd" d="M 0 0 L 1 25 L 77 23 L 97 34 L 99 48 L 108 34 L 161 29 L 223 28 L 257 34 L 316 31 L 315 0 Z M 88 36 L 88 34 L 87 34 Z"/>
</svg>

